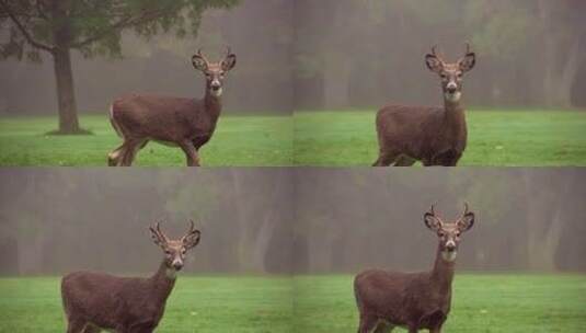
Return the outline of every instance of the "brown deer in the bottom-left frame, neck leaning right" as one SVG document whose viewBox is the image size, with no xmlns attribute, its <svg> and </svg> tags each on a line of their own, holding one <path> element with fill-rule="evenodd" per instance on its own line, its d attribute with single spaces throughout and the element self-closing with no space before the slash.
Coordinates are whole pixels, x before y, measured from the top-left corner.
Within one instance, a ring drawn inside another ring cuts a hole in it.
<svg viewBox="0 0 586 333">
<path fill-rule="evenodd" d="M 117 277 L 107 274 L 76 272 L 61 280 L 61 297 L 67 317 L 67 333 L 152 332 L 163 317 L 166 298 L 183 267 L 185 253 L 199 243 L 200 232 L 191 221 L 180 240 L 170 240 L 159 228 L 150 228 L 154 243 L 164 257 L 154 275 L 148 278 Z"/>
</svg>

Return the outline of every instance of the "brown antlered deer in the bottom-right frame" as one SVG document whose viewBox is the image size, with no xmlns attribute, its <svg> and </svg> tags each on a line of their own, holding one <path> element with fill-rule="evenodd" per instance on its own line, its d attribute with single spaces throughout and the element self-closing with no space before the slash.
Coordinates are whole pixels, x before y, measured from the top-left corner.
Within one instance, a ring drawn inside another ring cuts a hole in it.
<svg viewBox="0 0 586 333">
<path fill-rule="evenodd" d="M 466 205 L 461 218 L 446 223 L 432 210 L 424 215 L 427 228 L 439 244 L 434 268 L 422 273 L 380 269 L 361 272 L 354 279 L 354 295 L 360 314 L 358 333 L 390 332 L 394 326 L 410 333 L 427 329 L 441 332 L 450 311 L 451 280 L 462 232 L 472 228 L 474 214 Z"/>
</svg>

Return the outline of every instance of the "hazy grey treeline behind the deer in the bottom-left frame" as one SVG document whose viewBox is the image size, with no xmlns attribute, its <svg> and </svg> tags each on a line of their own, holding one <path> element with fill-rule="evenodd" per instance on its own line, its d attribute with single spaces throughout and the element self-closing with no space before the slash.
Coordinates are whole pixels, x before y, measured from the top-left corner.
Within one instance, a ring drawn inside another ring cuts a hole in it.
<svg viewBox="0 0 586 333">
<path fill-rule="evenodd" d="M 108 172 L 0 170 L 0 273 L 154 272 L 193 218 L 187 272 L 288 273 L 292 185 L 286 169 Z"/>
</svg>

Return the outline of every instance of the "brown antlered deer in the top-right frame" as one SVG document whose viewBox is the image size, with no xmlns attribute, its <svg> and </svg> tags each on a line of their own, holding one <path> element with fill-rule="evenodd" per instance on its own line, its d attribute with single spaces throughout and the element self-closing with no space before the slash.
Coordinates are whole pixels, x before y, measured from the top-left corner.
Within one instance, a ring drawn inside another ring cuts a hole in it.
<svg viewBox="0 0 586 333">
<path fill-rule="evenodd" d="M 377 113 L 379 158 L 374 166 L 453 166 L 466 149 L 467 127 L 462 96 L 463 73 L 474 67 L 476 56 L 467 43 L 466 55 L 455 64 L 436 53 L 425 56 L 430 71 L 439 74 L 444 107 L 387 105 Z"/>
</svg>

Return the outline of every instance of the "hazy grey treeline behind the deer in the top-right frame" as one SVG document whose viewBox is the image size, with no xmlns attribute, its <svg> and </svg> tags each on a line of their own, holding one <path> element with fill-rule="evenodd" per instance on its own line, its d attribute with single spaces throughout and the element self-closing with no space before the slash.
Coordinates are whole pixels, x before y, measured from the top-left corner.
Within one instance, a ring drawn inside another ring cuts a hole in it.
<svg viewBox="0 0 586 333">
<path fill-rule="evenodd" d="M 301 108 L 439 104 L 425 67 L 478 55 L 468 105 L 586 106 L 586 2 L 581 0 L 296 0 L 296 102 Z"/>
</svg>

